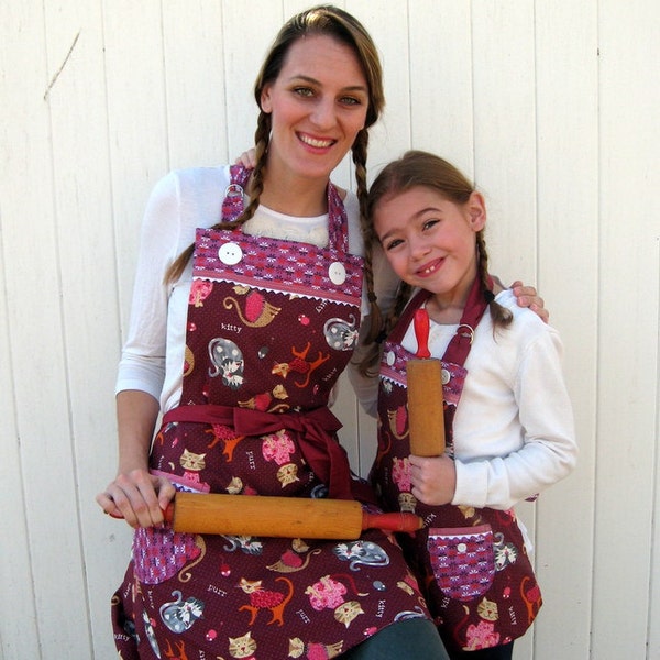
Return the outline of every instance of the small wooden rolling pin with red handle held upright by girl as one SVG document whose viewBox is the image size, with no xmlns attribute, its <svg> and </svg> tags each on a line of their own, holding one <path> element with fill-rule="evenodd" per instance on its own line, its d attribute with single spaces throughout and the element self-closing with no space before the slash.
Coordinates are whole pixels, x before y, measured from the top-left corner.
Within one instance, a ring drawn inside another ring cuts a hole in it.
<svg viewBox="0 0 660 660">
<path fill-rule="evenodd" d="M 442 397 L 442 363 L 428 349 L 429 315 L 415 311 L 417 353 L 406 363 L 408 387 L 408 428 L 410 453 L 439 457 L 444 451 L 444 414 Z"/>
</svg>

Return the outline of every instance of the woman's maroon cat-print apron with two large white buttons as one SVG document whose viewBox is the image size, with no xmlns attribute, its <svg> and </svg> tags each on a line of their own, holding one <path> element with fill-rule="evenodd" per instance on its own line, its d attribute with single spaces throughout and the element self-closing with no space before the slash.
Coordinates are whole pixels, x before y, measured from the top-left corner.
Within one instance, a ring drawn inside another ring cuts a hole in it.
<svg viewBox="0 0 660 660">
<path fill-rule="evenodd" d="M 226 220 L 242 210 L 246 180 L 232 173 Z M 198 230 L 182 405 L 151 455 L 177 488 L 373 502 L 351 479 L 327 407 L 362 294 L 332 186 L 328 202 L 327 249 Z M 342 542 L 140 529 L 112 612 L 124 659 L 320 660 L 429 617 L 393 537 L 375 530 Z"/>
</svg>

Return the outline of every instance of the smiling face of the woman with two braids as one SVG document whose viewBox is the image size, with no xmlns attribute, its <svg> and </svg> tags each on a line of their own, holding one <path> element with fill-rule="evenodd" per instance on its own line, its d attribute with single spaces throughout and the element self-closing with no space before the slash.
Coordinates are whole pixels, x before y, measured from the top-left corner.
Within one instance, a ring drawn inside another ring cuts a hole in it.
<svg viewBox="0 0 660 660">
<path fill-rule="evenodd" d="M 349 46 L 311 35 L 290 46 L 261 106 L 272 114 L 268 168 L 328 178 L 364 128 L 369 86 Z"/>
</svg>

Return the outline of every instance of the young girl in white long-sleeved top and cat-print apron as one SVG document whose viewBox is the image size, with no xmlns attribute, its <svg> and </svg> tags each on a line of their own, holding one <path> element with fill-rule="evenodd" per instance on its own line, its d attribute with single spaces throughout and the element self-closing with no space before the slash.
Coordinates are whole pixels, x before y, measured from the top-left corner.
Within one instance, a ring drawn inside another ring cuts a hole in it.
<svg viewBox="0 0 660 660">
<path fill-rule="evenodd" d="M 408 152 L 374 182 L 369 213 L 367 251 L 382 246 L 403 280 L 385 330 L 371 329 L 386 337 L 372 481 L 386 509 L 425 518 L 405 550 L 451 657 L 510 658 L 541 605 L 512 507 L 566 476 L 578 451 L 561 342 L 510 290 L 494 290 L 484 199 L 451 164 Z M 444 398 L 447 451 L 433 458 L 410 455 L 407 424 L 421 307 L 443 369 L 443 393 L 429 396 Z"/>
</svg>

